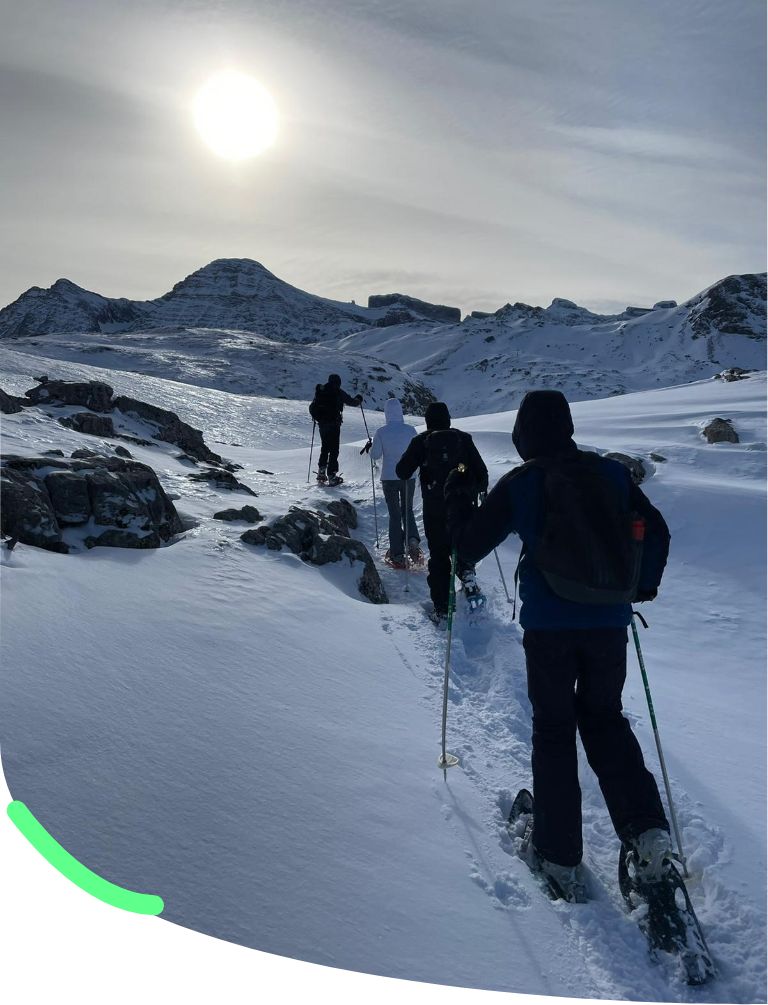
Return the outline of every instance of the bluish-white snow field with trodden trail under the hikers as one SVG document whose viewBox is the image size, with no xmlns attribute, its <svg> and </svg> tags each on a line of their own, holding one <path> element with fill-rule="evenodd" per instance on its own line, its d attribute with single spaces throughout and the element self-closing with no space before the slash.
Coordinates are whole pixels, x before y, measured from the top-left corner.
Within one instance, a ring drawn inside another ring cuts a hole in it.
<svg viewBox="0 0 768 1005">
<path fill-rule="evenodd" d="M 354 570 L 246 546 L 242 525 L 212 520 L 246 502 L 268 520 L 341 494 L 358 506 L 355 533 L 373 549 L 358 414 L 343 426 L 347 480 L 331 491 L 307 484 L 306 400 L 0 350 L 9 393 L 46 368 L 177 411 L 243 464 L 238 478 L 258 492 L 189 480 L 169 444 L 131 444 L 179 496 L 189 527 L 180 541 L 147 552 L 2 552 L 3 768 L 14 798 L 72 854 L 160 893 L 168 921 L 330 966 L 575 997 L 765 999 L 764 374 L 573 406 L 582 445 L 666 458 L 643 486 L 673 551 L 659 599 L 643 606 L 641 642 L 691 895 L 720 968 L 694 990 L 668 962 L 648 961 L 623 912 L 617 840 L 586 764 L 595 898 L 551 903 L 512 854 L 504 819 L 530 785 L 530 707 L 493 556 L 479 567 L 487 627 L 470 628 L 463 610 L 457 619 L 448 750 L 460 766 L 443 775 L 445 637 L 421 609 L 423 573 L 406 580 L 379 561 L 391 603 L 377 607 L 357 593 Z M 733 420 L 740 443 L 704 441 L 701 424 L 716 415 Z M 518 462 L 514 420 L 497 411 L 455 422 L 474 436 L 492 481 Z M 372 431 L 382 421 L 369 415 Z M 4 452 L 100 443 L 111 441 L 41 408 L 3 417 Z M 518 544 L 499 552 L 512 585 Z M 625 707 L 658 777 L 632 653 Z"/>
</svg>

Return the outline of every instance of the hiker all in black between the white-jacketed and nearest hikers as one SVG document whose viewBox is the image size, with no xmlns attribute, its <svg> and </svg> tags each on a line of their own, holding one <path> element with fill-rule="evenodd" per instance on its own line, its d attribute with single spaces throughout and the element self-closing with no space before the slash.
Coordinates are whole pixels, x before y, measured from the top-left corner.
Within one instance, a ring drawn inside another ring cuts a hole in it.
<svg viewBox="0 0 768 1005">
<path fill-rule="evenodd" d="M 450 413 L 444 402 L 432 402 L 424 418 L 426 431 L 410 441 L 395 473 L 398 478 L 407 479 L 419 468 L 424 533 L 429 548 L 427 583 L 434 607 L 433 618 L 440 623 L 447 617 L 450 588 L 451 542 L 443 497 L 445 478 L 458 464 L 464 464 L 476 486 L 476 498 L 477 491 L 485 492 L 488 488 L 488 468 L 469 433 L 451 429 Z M 467 597 L 479 593 L 473 563 L 460 561 L 456 571 Z"/>
</svg>

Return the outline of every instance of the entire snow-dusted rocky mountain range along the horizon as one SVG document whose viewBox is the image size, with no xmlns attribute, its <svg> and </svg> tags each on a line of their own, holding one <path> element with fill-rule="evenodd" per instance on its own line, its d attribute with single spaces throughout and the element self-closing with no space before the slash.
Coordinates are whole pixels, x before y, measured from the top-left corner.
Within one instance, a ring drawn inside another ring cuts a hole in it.
<svg viewBox="0 0 768 1005">
<path fill-rule="evenodd" d="M 154 300 L 107 297 L 58 279 L 0 311 L 0 339 L 49 359 L 150 373 L 241 394 L 311 397 L 338 371 L 373 407 L 392 394 L 421 414 L 517 406 L 535 387 L 574 400 L 763 369 L 766 275 L 732 275 L 678 305 L 598 315 L 571 300 L 495 313 L 376 294 L 341 303 L 250 259 L 217 259 Z"/>
</svg>

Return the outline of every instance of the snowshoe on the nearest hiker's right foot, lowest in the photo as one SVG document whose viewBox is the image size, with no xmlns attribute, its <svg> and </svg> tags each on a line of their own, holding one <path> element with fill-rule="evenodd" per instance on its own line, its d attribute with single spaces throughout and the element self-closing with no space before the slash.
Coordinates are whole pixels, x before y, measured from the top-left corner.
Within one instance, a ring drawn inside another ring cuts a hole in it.
<svg viewBox="0 0 768 1005">
<path fill-rule="evenodd" d="M 716 976 L 702 926 L 671 853 L 661 860 L 657 871 L 649 871 L 636 843 L 622 844 L 618 885 L 630 913 L 636 913 L 651 958 L 659 952 L 678 957 L 691 985 L 705 984 Z"/>
</svg>

